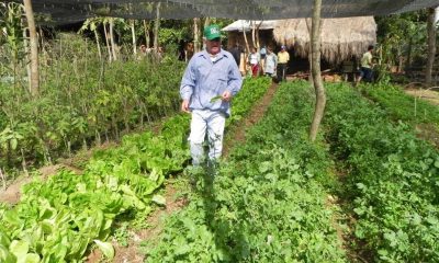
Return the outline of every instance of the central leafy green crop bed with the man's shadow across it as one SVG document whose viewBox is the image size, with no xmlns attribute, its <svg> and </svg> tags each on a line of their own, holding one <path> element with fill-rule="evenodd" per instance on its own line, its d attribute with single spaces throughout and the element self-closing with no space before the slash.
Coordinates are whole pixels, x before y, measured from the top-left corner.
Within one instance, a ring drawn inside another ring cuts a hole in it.
<svg viewBox="0 0 439 263">
<path fill-rule="evenodd" d="M 282 87 L 213 185 L 190 173 L 202 188 L 145 244 L 147 262 L 346 262 L 320 184 L 331 161 L 304 139 L 312 108 L 304 85 Z"/>
</svg>

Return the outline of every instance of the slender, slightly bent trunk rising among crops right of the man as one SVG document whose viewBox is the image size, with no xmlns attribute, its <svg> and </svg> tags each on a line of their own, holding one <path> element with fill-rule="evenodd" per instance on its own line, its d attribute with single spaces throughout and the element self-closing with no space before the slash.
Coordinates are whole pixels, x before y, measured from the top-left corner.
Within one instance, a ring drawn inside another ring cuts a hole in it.
<svg viewBox="0 0 439 263">
<path fill-rule="evenodd" d="M 322 81 L 320 72 L 320 12 L 322 12 L 322 0 L 314 0 L 313 7 L 313 24 L 312 24 L 312 49 L 313 49 L 313 81 L 316 93 L 316 104 L 313 117 L 313 123 L 309 128 L 309 139 L 315 141 L 317 137 L 318 127 L 320 125 L 323 114 L 325 112 L 326 95 L 325 88 Z"/>
</svg>

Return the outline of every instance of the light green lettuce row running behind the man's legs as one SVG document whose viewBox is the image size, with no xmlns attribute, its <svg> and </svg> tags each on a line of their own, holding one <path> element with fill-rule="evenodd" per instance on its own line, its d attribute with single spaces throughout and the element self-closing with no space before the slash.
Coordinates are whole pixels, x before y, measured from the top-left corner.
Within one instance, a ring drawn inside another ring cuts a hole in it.
<svg viewBox="0 0 439 263">
<path fill-rule="evenodd" d="M 239 116 L 269 83 L 245 81 L 235 100 Z M 120 147 L 94 152 L 82 174 L 65 170 L 23 186 L 16 205 L 0 206 L 0 262 L 81 262 L 91 244 L 113 258 L 108 239 L 117 220 L 144 219 L 166 204 L 157 190 L 188 164 L 188 129 L 189 115 L 178 115 L 158 135 L 125 136 Z"/>
</svg>

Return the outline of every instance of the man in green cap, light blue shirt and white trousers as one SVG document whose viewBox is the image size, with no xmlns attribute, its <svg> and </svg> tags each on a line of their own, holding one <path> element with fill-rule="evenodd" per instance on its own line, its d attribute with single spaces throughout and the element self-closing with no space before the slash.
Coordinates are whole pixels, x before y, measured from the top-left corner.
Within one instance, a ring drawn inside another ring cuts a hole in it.
<svg viewBox="0 0 439 263">
<path fill-rule="evenodd" d="M 180 85 L 181 110 L 192 113 L 189 141 L 193 165 L 205 159 L 203 142 L 207 132 L 209 161 L 217 160 L 223 150 L 226 117 L 230 100 L 240 90 L 243 78 L 230 53 L 221 48 L 217 25 L 204 28 L 205 49 L 193 55 Z"/>
</svg>

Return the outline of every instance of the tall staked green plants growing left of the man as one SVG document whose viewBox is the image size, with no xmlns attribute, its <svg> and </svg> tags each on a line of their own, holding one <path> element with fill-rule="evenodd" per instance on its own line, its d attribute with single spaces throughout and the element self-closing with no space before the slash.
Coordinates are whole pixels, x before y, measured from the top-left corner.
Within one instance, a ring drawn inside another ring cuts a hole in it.
<svg viewBox="0 0 439 263">
<path fill-rule="evenodd" d="M 0 167 L 18 165 L 23 157 L 27 163 L 49 162 L 179 108 L 184 64 L 172 57 L 160 64 L 147 58 L 106 64 L 80 36 L 61 34 L 56 42 L 41 57 L 38 99 L 0 83 L 0 141 L 13 146 L 0 150 L 10 157 Z"/>
</svg>

